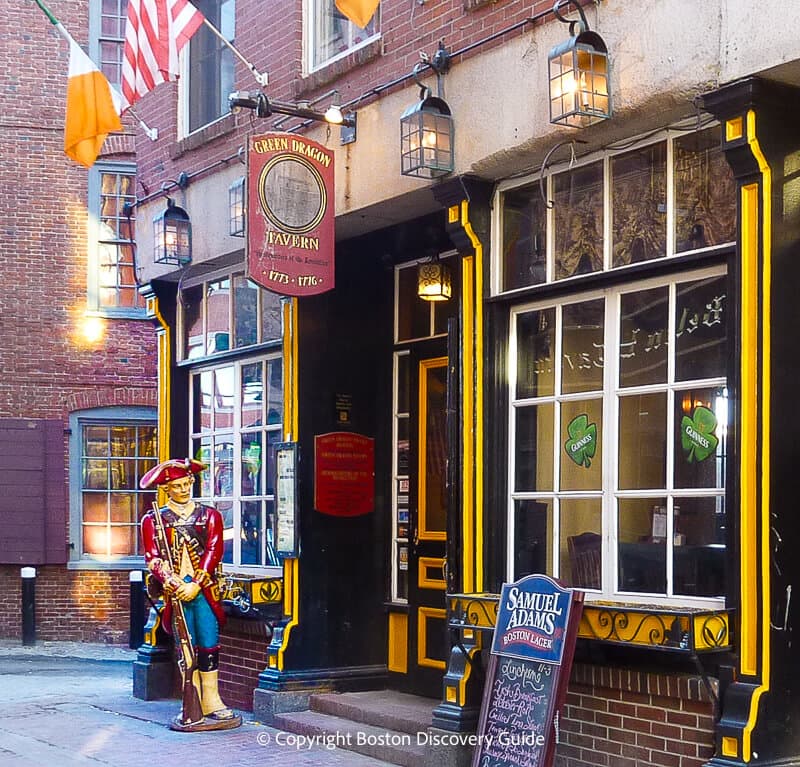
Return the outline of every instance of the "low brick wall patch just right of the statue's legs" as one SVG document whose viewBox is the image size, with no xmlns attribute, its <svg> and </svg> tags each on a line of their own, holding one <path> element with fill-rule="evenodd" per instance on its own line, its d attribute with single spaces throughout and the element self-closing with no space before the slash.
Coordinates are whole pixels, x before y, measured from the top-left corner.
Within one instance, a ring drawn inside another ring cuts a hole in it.
<svg viewBox="0 0 800 767">
<path fill-rule="evenodd" d="M 253 710 L 253 690 L 267 665 L 269 636 L 265 624 L 229 619 L 220 637 L 219 685 L 223 700 Z"/>
</svg>

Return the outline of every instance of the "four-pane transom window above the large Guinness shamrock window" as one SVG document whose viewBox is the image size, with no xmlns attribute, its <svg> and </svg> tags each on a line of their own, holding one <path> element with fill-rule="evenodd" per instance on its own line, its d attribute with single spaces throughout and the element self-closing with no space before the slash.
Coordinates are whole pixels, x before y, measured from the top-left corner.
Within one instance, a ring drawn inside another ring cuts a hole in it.
<svg viewBox="0 0 800 767">
<path fill-rule="evenodd" d="M 736 195 L 720 127 L 670 130 L 501 192 L 495 292 L 733 242 Z"/>
</svg>

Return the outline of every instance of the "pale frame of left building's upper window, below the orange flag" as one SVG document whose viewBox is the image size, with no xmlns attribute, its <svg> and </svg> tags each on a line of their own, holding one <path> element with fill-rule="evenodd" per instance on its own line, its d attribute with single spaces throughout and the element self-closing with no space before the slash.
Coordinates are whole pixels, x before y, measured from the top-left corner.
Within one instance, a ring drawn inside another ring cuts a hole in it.
<svg viewBox="0 0 800 767">
<path fill-rule="evenodd" d="M 145 319 L 145 301 L 138 295 L 140 306 L 102 306 L 100 304 L 100 195 L 102 190 L 101 178 L 103 174 L 119 174 L 136 178 L 136 166 L 132 163 L 97 162 L 89 170 L 88 180 L 88 209 L 89 219 L 87 225 L 87 274 L 86 274 L 86 304 L 89 314 L 99 317 L 116 317 L 122 319 Z M 135 187 L 134 187 L 135 189 Z M 119 199 L 119 198 L 118 198 Z M 135 197 L 131 197 L 133 201 Z M 121 205 L 120 205 L 120 216 Z M 136 211 L 131 212 L 131 223 L 135 226 Z M 131 255 L 133 259 L 134 279 L 136 275 L 136 240 L 131 240 Z M 136 289 L 136 286 L 133 286 Z"/>
</svg>

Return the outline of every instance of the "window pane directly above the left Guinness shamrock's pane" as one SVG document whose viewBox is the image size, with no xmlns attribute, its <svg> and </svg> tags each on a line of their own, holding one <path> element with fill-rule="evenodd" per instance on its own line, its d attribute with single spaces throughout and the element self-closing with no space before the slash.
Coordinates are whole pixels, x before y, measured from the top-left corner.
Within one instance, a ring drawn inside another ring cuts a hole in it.
<svg viewBox="0 0 800 767">
<path fill-rule="evenodd" d="M 604 311 L 602 298 L 568 304 L 563 309 L 561 391 L 564 394 L 603 388 Z"/>
</svg>

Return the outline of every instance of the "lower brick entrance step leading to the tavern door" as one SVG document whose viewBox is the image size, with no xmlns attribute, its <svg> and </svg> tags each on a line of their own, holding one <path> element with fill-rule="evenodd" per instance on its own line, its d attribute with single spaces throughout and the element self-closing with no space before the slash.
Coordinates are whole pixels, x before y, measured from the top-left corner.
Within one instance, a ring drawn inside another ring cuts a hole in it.
<svg viewBox="0 0 800 767">
<path fill-rule="evenodd" d="M 387 730 L 319 711 L 278 714 L 273 727 L 319 738 L 319 745 L 330 743 L 337 749 L 354 751 L 401 767 L 418 767 L 425 757 L 425 746 L 417 745 L 416 734 Z"/>
</svg>

